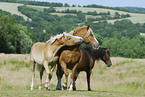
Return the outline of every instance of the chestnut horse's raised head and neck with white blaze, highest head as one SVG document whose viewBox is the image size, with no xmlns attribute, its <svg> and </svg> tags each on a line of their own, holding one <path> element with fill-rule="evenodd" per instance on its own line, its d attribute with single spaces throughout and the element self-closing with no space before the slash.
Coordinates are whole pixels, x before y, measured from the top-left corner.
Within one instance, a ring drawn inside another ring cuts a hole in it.
<svg viewBox="0 0 145 97">
<path fill-rule="evenodd" d="M 95 35 L 90 28 L 90 24 L 88 26 L 78 27 L 75 30 L 71 31 L 70 34 L 82 37 L 84 39 L 84 43 L 90 45 L 95 49 L 99 47 L 99 42 L 95 38 Z"/>
</svg>

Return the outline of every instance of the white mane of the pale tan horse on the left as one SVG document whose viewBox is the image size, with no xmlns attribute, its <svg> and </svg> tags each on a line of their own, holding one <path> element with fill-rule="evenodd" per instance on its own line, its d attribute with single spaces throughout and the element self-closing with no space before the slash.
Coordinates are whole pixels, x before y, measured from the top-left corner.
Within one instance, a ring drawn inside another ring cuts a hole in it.
<svg viewBox="0 0 145 97">
<path fill-rule="evenodd" d="M 65 36 L 72 36 L 72 35 L 70 35 L 66 32 L 63 32 L 63 34 Z M 53 44 L 56 41 L 56 39 L 62 38 L 63 34 L 58 34 L 58 35 L 55 35 L 55 36 L 51 36 L 50 39 L 46 43 Z"/>
</svg>

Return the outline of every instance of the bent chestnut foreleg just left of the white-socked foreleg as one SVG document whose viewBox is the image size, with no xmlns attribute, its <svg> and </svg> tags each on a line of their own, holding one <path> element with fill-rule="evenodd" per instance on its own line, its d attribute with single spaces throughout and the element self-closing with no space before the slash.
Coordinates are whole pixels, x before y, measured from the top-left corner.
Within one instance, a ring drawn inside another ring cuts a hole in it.
<svg viewBox="0 0 145 97">
<path fill-rule="evenodd" d="M 64 74 L 65 74 L 65 82 L 64 82 L 64 85 L 63 85 L 63 89 L 66 90 L 67 89 L 69 72 L 67 70 L 67 66 L 66 66 L 66 63 L 65 62 L 61 61 L 60 64 L 61 64 L 61 67 L 63 68 Z"/>
</svg>

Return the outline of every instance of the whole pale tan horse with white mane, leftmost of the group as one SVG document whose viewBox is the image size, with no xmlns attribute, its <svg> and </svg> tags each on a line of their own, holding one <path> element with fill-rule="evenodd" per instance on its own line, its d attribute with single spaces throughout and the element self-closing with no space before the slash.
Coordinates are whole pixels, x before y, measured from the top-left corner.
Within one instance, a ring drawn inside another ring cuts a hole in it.
<svg viewBox="0 0 145 97">
<path fill-rule="evenodd" d="M 50 89 L 49 84 L 52 78 L 52 71 L 55 67 L 55 64 L 58 62 L 57 51 L 63 46 L 77 45 L 77 44 L 81 44 L 82 42 L 83 42 L 83 38 L 81 37 L 63 33 L 51 37 L 46 43 L 40 43 L 40 42 L 35 43 L 31 48 L 31 55 L 30 55 L 30 61 L 31 64 L 33 65 L 32 68 L 33 77 L 32 77 L 31 90 L 33 90 L 34 87 L 33 81 L 35 77 L 35 63 L 37 63 L 37 66 L 39 67 L 39 71 L 40 71 L 39 89 L 41 90 L 42 75 L 45 69 L 47 72 L 45 87 L 49 90 Z M 48 66 L 50 66 L 51 68 L 48 68 Z"/>
</svg>

